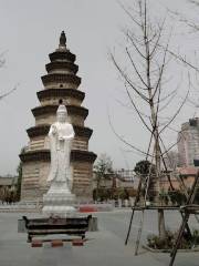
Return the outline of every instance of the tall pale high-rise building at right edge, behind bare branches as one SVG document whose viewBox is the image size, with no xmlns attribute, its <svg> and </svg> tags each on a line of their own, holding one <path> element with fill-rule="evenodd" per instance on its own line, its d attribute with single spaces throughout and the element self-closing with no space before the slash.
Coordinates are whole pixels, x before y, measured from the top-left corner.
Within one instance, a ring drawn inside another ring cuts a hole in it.
<svg viewBox="0 0 199 266">
<path fill-rule="evenodd" d="M 178 133 L 179 166 L 191 166 L 199 160 L 199 119 L 190 119 Z"/>
</svg>

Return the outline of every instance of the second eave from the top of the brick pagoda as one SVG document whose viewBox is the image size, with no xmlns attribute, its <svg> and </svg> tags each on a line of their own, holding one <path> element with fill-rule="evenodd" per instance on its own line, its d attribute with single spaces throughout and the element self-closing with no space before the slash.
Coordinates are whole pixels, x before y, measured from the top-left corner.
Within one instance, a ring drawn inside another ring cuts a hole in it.
<svg viewBox="0 0 199 266">
<path fill-rule="evenodd" d="M 57 69 L 70 70 L 74 74 L 76 74 L 76 72 L 78 71 L 78 65 L 71 62 L 54 61 L 45 64 L 45 69 L 48 72 Z"/>
</svg>

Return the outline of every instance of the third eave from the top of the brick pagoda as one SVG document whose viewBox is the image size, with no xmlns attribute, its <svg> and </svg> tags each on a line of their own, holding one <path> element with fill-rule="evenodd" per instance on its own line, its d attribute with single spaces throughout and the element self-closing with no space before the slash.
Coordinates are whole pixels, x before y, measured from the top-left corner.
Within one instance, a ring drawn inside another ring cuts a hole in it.
<svg viewBox="0 0 199 266">
<path fill-rule="evenodd" d="M 52 73 L 41 76 L 44 85 L 48 85 L 51 82 L 55 83 L 74 83 L 76 85 L 81 84 L 81 78 L 74 74 L 61 74 L 61 73 Z"/>
</svg>

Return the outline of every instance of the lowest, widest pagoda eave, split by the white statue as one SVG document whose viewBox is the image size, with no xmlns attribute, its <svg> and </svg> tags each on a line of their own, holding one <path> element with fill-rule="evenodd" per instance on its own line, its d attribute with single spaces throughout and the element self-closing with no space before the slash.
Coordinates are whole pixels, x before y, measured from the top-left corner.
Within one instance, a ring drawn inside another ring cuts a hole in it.
<svg viewBox="0 0 199 266">
<path fill-rule="evenodd" d="M 29 162 L 50 162 L 51 155 L 49 150 L 38 150 L 38 151 L 31 151 L 21 153 L 20 158 L 23 163 Z M 87 163 L 94 163 L 96 160 L 96 154 L 93 152 L 87 151 L 81 151 L 81 150 L 72 150 L 71 151 L 71 162 L 87 162 Z"/>
</svg>

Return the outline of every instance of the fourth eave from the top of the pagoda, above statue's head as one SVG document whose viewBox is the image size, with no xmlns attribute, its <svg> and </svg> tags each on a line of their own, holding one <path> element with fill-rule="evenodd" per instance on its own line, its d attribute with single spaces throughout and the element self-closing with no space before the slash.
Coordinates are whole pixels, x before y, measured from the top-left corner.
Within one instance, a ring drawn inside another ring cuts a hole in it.
<svg viewBox="0 0 199 266">
<path fill-rule="evenodd" d="M 82 91 L 77 91 L 74 89 L 48 89 L 36 92 L 38 99 L 40 101 L 51 98 L 63 98 L 63 96 L 72 96 L 80 101 L 83 101 L 85 98 L 85 93 Z"/>
</svg>

